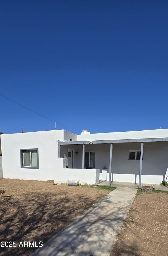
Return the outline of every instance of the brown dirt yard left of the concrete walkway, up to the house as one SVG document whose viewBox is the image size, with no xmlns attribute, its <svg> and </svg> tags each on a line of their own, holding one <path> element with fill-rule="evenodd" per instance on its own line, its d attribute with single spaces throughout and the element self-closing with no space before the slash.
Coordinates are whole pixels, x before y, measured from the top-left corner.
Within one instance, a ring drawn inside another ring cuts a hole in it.
<svg viewBox="0 0 168 256">
<path fill-rule="evenodd" d="M 110 192 L 17 179 L 0 179 L 0 188 L 5 190 L 0 197 L 0 256 L 30 255 L 37 248 L 22 247 L 20 242 L 44 244 Z M 3 241 L 17 245 L 2 247 Z"/>
</svg>

